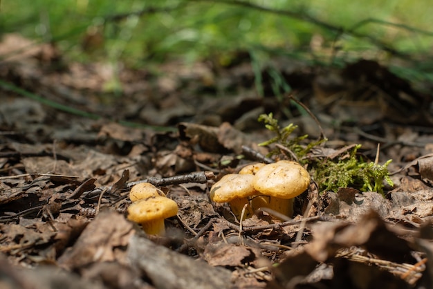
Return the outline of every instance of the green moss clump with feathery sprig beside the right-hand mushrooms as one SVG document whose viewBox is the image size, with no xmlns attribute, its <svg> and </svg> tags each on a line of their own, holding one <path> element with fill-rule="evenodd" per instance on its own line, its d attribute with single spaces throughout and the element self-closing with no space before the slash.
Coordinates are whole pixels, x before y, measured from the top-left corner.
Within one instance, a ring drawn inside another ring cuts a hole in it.
<svg viewBox="0 0 433 289">
<path fill-rule="evenodd" d="M 272 145 L 278 143 L 283 145 L 303 165 L 308 165 L 308 171 L 319 185 L 320 192 L 337 192 L 340 187 L 354 187 L 362 192 L 373 191 L 383 194 L 384 181 L 393 185 L 389 178 L 387 169 L 391 160 L 379 165 L 366 161 L 358 153 L 361 145 L 356 145 L 340 156 L 327 158 L 322 155 L 311 153 L 315 147 L 322 145 L 326 140 L 305 142 L 307 135 L 291 137 L 291 133 L 297 129 L 296 125 L 289 124 L 287 127 L 279 127 L 278 120 L 269 115 L 260 115 L 259 121 L 265 122 L 266 129 L 275 132 L 276 136 L 260 145 Z M 270 155 L 280 153 L 279 149 L 270 151 Z"/>
</svg>

